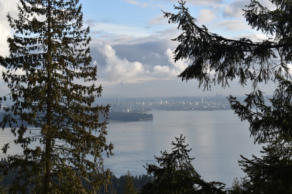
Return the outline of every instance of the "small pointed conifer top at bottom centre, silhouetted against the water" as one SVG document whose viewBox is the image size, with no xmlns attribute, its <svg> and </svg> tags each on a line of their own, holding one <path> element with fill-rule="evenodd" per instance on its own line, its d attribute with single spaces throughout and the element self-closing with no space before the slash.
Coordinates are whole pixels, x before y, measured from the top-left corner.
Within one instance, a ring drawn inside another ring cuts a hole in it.
<svg viewBox="0 0 292 194">
<path fill-rule="evenodd" d="M 194 170 L 188 145 L 184 145 L 185 137 L 175 138 L 172 142 L 173 151 L 168 154 L 162 152 L 161 157 L 155 159 L 159 166 L 147 164 L 148 175 L 153 175 L 154 181 L 142 187 L 141 193 L 224 193 L 224 184 L 220 182 L 205 182 Z M 223 186 L 221 186 L 223 185 Z"/>
</svg>

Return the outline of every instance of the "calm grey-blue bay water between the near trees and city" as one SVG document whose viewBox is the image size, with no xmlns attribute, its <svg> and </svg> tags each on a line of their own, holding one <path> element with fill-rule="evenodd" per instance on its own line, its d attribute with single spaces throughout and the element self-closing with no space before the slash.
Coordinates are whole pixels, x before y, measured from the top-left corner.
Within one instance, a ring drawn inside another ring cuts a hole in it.
<svg viewBox="0 0 292 194">
<path fill-rule="evenodd" d="M 238 165 L 240 154 L 260 156 L 262 145 L 249 137 L 248 122 L 241 122 L 231 110 L 224 111 L 152 111 L 153 120 L 111 122 L 107 142 L 114 144 L 114 156 L 105 158 L 105 167 L 119 177 L 127 170 L 132 175 L 146 174 L 146 163 L 155 163 L 154 155 L 171 152 L 171 142 L 186 136 L 194 168 L 205 181 L 221 181 L 228 186 L 234 177 L 245 174 Z M 0 147 L 11 139 L 9 129 L 0 131 Z M 8 154 L 21 149 L 11 146 Z M 0 153 L 0 157 L 5 157 Z"/>
</svg>

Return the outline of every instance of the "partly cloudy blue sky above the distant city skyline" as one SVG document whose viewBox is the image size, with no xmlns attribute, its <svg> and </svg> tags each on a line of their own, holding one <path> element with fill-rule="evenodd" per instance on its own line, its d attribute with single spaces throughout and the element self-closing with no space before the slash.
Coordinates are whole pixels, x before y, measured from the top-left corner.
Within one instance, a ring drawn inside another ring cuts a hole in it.
<svg viewBox="0 0 292 194">
<path fill-rule="evenodd" d="M 271 7 L 268 0 L 259 2 Z M 6 40 L 13 34 L 6 14 L 16 16 L 17 3 L 18 0 L 0 0 L 1 56 L 9 54 Z M 168 23 L 161 10 L 177 13 L 173 5 L 178 6 L 178 0 L 80 0 L 80 3 L 84 27 L 89 25 L 91 29 L 92 63 L 98 66 L 96 85 L 102 85 L 102 96 L 205 96 L 216 92 L 244 95 L 251 91 L 251 85 L 242 88 L 238 80 L 230 83 L 229 88 L 211 86 L 211 91 L 203 91 L 198 88 L 198 81 L 185 82 L 177 77 L 188 66 L 186 60 L 176 63 L 173 60 L 178 42 L 171 39 L 181 31 L 177 24 Z M 265 38 L 251 29 L 242 15 L 242 9 L 249 3 L 249 0 L 186 0 L 185 6 L 199 26 L 205 25 L 213 33 L 227 38 L 254 33 Z M 8 92 L 7 84 L 2 82 L 1 93 Z"/>
</svg>

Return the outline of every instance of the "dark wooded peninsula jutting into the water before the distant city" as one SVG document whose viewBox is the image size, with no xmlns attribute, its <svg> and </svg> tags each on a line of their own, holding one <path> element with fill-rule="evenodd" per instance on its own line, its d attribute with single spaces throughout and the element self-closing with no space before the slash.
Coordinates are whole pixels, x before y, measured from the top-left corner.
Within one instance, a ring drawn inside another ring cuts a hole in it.
<svg viewBox="0 0 292 194">
<path fill-rule="evenodd" d="M 102 118 L 103 117 L 101 117 L 100 119 Z M 109 121 L 140 121 L 147 119 L 153 119 L 152 113 L 121 113 L 121 112 L 109 113 Z"/>
</svg>

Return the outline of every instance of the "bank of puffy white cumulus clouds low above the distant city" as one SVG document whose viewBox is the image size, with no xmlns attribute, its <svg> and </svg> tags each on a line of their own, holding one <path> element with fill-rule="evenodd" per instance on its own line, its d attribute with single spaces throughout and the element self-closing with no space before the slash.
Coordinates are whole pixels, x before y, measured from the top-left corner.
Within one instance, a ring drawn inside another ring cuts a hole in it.
<svg viewBox="0 0 292 194">
<path fill-rule="evenodd" d="M 142 60 L 148 64 L 141 62 L 131 62 L 127 58 L 117 56 L 115 49 L 106 42 L 99 43 L 98 52 L 102 55 L 105 62 L 100 61 L 98 64 L 99 80 L 102 83 L 143 83 L 154 80 L 170 80 L 177 79 L 177 76 L 188 66 L 187 60 L 179 60 L 176 63 L 173 60 L 173 50 L 170 48 L 164 52 L 164 55 L 150 52 L 142 57 Z M 155 60 L 157 59 L 157 60 Z M 161 65 L 150 65 L 150 61 L 162 61 L 166 63 Z M 97 64 L 96 61 L 93 64 Z"/>
</svg>

